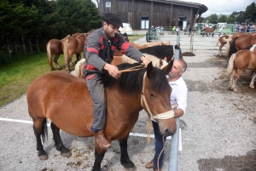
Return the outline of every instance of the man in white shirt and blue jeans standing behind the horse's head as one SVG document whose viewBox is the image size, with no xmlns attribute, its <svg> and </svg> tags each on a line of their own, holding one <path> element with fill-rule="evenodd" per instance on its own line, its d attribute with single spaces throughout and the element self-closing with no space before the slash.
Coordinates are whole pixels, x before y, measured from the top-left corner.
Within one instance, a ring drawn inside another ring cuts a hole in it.
<svg viewBox="0 0 256 171">
<path fill-rule="evenodd" d="M 188 88 L 182 77 L 186 69 L 187 64 L 184 60 L 174 60 L 172 71 L 170 71 L 167 76 L 168 82 L 172 87 L 172 94 L 170 97 L 171 105 L 177 104 L 177 108 L 174 109 L 174 117 L 182 117 L 186 111 Z M 155 153 L 153 160 L 148 162 L 145 167 L 154 168 L 154 171 L 160 171 L 160 168 L 162 168 L 163 165 L 164 151 L 162 151 L 162 149 L 164 146 L 163 143 L 166 142 L 166 136 L 160 134 L 159 125 L 153 118 L 152 123 L 154 128 Z M 160 155 L 161 151 L 162 153 Z"/>
</svg>

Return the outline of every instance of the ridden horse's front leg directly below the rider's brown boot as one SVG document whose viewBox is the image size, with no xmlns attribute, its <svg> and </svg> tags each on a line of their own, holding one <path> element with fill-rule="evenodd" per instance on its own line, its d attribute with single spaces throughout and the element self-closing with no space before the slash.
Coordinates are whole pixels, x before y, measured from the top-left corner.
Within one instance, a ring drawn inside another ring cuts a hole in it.
<svg viewBox="0 0 256 171">
<path fill-rule="evenodd" d="M 100 145 L 96 142 L 96 140 L 95 140 L 94 144 L 95 144 L 95 153 L 94 153 L 95 161 L 94 161 L 92 171 L 101 171 L 102 170 L 102 168 L 101 168 L 102 160 L 103 160 L 103 157 L 105 156 L 105 152 L 107 150 L 102 149 L 100 147 Z"/>
</svg>

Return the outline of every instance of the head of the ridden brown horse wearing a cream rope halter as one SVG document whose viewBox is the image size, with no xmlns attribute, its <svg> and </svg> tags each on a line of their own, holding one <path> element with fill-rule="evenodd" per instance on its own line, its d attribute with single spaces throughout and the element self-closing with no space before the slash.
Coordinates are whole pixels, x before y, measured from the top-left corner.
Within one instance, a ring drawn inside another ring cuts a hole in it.
<svg viewBox="0 0 256 171">
<path fill-rule="evenodd" d="M 163 70 L 170 71 L 172 64 L 173 62 L 170 62 Z M 165 73 L 154 68 L 150 62 L 143 78 L 142 105 L 159 123 L 160 133 L 165 136 L 172 135 L 177 128 L 170 102 L 171 93 L 172 88 L 167 82 Z"/>
</svg>

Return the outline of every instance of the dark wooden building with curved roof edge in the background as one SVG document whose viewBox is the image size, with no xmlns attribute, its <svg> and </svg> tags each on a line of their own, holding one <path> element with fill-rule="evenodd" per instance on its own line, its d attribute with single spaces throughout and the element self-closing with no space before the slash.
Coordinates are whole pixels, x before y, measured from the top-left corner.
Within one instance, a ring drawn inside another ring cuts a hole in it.
<svg viewBox="0 0 256 171">
<path fill-rule="evenodd" d="M 133 30 L 151 26 L 194 26 L 201 22 L 201 14 L 208 10 L 201 3 L 178 0 L 100 0 L 98 7 L 101 14 L 118 14 Z"/>
</svg>

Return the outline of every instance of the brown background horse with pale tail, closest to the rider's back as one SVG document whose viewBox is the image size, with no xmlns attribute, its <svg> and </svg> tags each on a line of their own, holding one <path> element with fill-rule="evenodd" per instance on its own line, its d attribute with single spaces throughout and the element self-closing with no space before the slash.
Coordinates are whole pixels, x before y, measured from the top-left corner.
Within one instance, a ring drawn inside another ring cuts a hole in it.
<svg viewBox="0 0 256 171">
<path fill-rule="evenodd" d="M 68 64 L 71 62 L 73 54 L 77 55 L 75 63 L 80 60 L 81 53 L 84 52 L 85 38 L 88 35 L 89 33 L 81 33 L 78 37 L 67 37 L 62 41 L 61 46 L 63 48 L 66 71 L 70 71 Z"/>
</svg>

